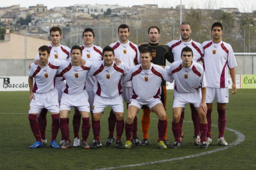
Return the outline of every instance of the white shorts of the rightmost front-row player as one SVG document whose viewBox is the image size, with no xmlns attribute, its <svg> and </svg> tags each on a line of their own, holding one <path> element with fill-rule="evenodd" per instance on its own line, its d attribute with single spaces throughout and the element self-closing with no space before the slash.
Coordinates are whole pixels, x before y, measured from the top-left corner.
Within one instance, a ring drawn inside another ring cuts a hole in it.
<svg viewBox="0 0 256 170">
<path fill-rule="evenodd" d="M 202 101 L 201 89 L 197 92 L 180 93 L 174 90 L 174 100 L 172 108 L 174 107 L 185 107 L 186 104 L 193 104 L 194 107 L 199 107 Z"/>
</svg>

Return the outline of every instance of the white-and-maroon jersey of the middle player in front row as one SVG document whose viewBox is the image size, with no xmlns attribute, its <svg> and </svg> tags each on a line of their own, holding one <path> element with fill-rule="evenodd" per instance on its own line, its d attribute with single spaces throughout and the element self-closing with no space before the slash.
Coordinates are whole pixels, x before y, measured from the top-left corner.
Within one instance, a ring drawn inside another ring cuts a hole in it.
<svg viewBox="0 0 256 170">
<path fill-rule="evenodd" d="M 93 92 L 104 98 L 114 98 L 122 94 L 121 77 L 127 73 L 129 67 L 125 63 L 104 66 L 104 61 L 92 65 L 88 76 L 95 76 Z"/>
</svg>

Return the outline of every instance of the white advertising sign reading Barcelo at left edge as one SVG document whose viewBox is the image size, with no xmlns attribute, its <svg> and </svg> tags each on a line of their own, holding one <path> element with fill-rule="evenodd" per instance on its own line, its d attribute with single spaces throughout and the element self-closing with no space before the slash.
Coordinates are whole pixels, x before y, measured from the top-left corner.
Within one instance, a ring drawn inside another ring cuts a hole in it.
<svg viewBox="0 0 256 170">
<path fill-rule="evenodd" d="M 29 91 L 28 76 L 0 76 L 0 91 Z"/>
</svg>

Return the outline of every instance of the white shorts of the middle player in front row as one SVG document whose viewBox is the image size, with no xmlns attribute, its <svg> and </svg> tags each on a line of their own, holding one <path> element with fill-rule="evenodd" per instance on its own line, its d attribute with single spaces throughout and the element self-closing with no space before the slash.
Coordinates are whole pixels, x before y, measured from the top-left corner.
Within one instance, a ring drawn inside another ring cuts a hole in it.
<svg viewBox="0 0 256 170">
<path fill-rule="evenodd" d="M 100 113 L 104 111 L 107 106 L 112 107 L 114 112 L 124 113 L 124 103 L 121 95 L 115 98 L 103 98 L 97 94 L 94 96 L 92 113 Z"/>
</svg>

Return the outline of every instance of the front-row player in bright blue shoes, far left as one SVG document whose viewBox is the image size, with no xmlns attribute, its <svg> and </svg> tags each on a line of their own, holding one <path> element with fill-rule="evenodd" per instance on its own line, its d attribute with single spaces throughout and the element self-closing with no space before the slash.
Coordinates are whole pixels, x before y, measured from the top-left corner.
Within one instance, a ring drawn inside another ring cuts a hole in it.
<svg viewBox="0 0 256 170">
<path fill-rule="evenodd" d="M 28 119 L 31 130 L 36 138 L 36 142 L 30 148 L 34 149 L 44 146 L 36 118 L 42 109 L 46 108 L 52 115 L 52 139 L 50 147 L 58 149 L 60 147 L 56 143 L 56 137 L 59 130 L 59 102 L 58 91 L 55 89 L 55 75 L 60 61 L 48 59 L 50 57 L 50 48 L 46 45 L 41 46 L 38 51 L 39 64 L 31 64 L 28 77 L 30 90 Z"/>
</svg>

